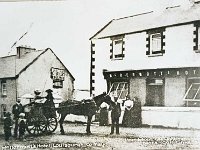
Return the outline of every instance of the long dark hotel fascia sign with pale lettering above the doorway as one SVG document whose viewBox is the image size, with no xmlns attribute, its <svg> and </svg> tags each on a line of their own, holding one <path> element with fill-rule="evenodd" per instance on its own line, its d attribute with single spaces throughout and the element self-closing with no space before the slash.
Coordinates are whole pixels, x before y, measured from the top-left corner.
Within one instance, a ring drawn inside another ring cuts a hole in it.
<svg viewBox="0 0 200 150">
<path fill-rule="evenodd" d="M 135 78 L 135 77 L 175 77 L 175 76 L 200 76 L 200 67 L 167 68 L 132 71 L 105 71 L 104 78 Z"/>
</svg>

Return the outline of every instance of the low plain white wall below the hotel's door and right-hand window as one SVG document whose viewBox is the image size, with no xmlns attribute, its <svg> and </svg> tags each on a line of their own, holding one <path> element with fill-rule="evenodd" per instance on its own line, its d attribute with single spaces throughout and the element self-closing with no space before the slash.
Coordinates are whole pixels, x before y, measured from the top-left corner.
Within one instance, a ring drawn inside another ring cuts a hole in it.
<svg viewBox="0 0 200 150">
<path fill-rule="evenodd" d="M 199 107 L 142 107 L 142 123 L 152 126 L 200 129 Z"/>
</svg>

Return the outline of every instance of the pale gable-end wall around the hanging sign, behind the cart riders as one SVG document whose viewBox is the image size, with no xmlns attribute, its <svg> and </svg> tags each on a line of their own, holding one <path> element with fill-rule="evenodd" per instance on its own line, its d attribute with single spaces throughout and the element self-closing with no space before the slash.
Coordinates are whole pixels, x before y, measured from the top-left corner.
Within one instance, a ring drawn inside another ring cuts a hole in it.
<svg viewBox="0 0 200 150">
<path fill-rule="evenodd" d="M 53 80 L 50 78 L 51 67 L 64 69 L 64 66 L 58 61 L 55 55 L 48 50 L 19 75 L 17 80 L 18 96 L 20 97 L 26 93 L 33 94 L 35 89 L 40 89 L 45 95 L 45 90 L 53 89 Z M 73 86 L 71 76 L 65 71 L 63 88 L 59 89 L 61 96 L 65 100 L 72 98 Z"/>
</svg>

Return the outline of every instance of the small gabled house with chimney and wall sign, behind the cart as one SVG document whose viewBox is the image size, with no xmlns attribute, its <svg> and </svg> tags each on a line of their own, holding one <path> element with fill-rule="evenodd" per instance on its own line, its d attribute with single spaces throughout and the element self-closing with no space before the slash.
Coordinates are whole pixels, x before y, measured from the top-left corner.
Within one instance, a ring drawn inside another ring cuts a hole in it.
<svg viewBox="0 0 200 150">
<path fill-rule="evenodd" d="M 18 97 L 34 95 L 35 89 L 42 96 L 52 89 L 64 100 L 72 98 L 75 79 L 50 48 L 17 47 L 17 55 L 0 58 L 0 67 L 1 117 L 11 111 Z"/>
</svg>

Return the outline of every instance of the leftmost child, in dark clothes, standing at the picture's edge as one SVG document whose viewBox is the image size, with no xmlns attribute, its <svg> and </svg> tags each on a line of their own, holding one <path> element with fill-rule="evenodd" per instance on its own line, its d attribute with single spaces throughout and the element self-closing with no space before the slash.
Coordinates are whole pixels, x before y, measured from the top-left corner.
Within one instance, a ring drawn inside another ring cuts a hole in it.
<svg viewBox="0 0 200 150">
<path fill-rule="evenodd" d="M 5 114 L 4 118 L 4 135 L 5 135 L 5 140 L 9 141 L 11 137 L 11 129 L 12 129 L 12 120 L 11 120 L 11 113 L 7 112 Z"/>
</svg>

